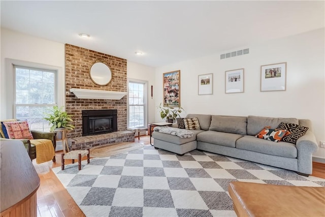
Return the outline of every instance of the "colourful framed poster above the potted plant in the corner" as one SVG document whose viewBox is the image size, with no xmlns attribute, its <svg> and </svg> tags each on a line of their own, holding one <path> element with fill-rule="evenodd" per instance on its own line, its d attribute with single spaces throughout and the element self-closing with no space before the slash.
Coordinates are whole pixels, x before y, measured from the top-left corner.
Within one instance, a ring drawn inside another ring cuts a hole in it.
<svg viewBox="0 0 325 217">
<path fill-rule="evenodd" d="M 163 74 L 163 97 L 164 106 L 180 106 L 181 103 L 181 88 L 180 80 L 181 71 L 166 72 Z"/>
</svg>

